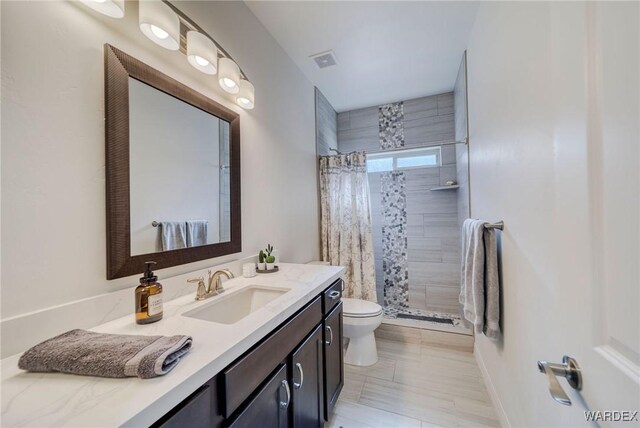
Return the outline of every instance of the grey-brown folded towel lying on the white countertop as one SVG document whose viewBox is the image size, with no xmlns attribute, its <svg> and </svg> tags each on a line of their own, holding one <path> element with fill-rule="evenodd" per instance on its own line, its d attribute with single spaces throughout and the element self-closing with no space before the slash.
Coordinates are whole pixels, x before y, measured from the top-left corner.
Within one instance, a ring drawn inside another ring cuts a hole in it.
<svg viewBox="0 0 640 428">
<path fill-rule="evenodd" d="M 191 349 L 190 336 L 138 336 L 71 330 L 29 349 L 18 367 L 32 372 L 149 379 L 167 374 Z"/>
</svg>

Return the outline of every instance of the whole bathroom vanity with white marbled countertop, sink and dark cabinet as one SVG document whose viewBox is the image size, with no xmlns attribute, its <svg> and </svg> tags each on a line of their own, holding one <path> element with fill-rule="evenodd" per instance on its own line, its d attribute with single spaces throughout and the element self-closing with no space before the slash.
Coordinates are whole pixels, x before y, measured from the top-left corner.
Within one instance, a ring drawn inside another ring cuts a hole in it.
<svg viewBox="0 0 640 428">
<path fill-rule="evenodd" d="M 191 336 L 191 351 L 165 376 L 28 373 L 17 367 L 20 355 L 3 359 L 2 425 L 322 426 L 343 384 L 344 268 L 279 266 L 225 281 L 222 294 L 204 301 L 185 281 L 188 294 L 166 302 L 153 324 L 128 315 L 91 328 Z"/>
</svg>

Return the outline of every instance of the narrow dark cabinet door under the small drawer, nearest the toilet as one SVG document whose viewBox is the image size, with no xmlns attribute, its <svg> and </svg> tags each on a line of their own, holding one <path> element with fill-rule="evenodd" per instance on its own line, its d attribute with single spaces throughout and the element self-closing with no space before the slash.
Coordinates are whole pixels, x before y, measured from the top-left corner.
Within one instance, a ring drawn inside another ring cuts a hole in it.
<svg viewBox="0 0 640 428">
<path fill-rule="evenodd" d="M 342 385 L 344 367 L 342 361 L 342 302 L 329 314 L 323 323 L 324 329 L 324 417 L 329 420 Z"/>
</svg>

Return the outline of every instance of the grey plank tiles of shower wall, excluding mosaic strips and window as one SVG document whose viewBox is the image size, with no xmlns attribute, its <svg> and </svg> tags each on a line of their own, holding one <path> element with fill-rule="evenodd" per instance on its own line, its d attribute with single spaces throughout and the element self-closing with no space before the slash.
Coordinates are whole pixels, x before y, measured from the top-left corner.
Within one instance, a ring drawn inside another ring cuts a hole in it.
<svg viewBox="0 0 640 428">
<path fill-rule="evenodd" d="M 453 93 L 408 100 L 402 104 L 403 147 L 453 141 Z M 342 152 L 380 151 L 379 114 L 377 106 L 338 113 L 339 150 Z M 394 130 L 391 134 L 395 141 L 399 131 Z M 393 142 L 389 145 L 390 148 L 393 146 L 398 146 L 398 143 Z M 410 308 L 458 313 L 460 291 L 458 195 L 455 190 L 430 190 L 444 185 L 448 180 L 458 180 L 456 158 L 455 146 L 443 146 L 441 167 L 403 172 L 406 192 L 406 262 L 401 260 L 401 263 L 407 266 Z M 389 249 L 388 245 L 383 247 L 383 181 L 381 180 L 383 174 L 388 173 L 369 174 L 376 283 L 378 300 L 381 304 L 384 303 L 384 248 Z M 466 214 L 464 216 L 466 217 Z M 396 239 L 403 238 L 396 237 Z M 398 252 L 397 247 L 394 247 L 394 252 Z"/>
</svg>

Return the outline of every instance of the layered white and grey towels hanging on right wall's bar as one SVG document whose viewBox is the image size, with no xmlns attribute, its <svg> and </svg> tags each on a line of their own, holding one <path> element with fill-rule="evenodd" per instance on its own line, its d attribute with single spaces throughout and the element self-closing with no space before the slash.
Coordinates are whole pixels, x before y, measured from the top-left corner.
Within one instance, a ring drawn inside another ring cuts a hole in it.
<svg viewBox="0 0 640 428">
<path fill-rule="evenodd" d="M 499 336 L 500 296 L 496 236 L 489 224 L 467 219 L 462 227 L 462 278 L 459 301 L 463 315 L 476 333 L 490 339 Z"/>
</svg>

